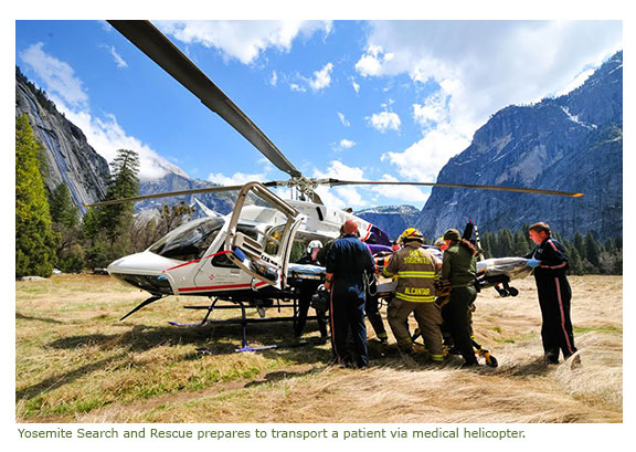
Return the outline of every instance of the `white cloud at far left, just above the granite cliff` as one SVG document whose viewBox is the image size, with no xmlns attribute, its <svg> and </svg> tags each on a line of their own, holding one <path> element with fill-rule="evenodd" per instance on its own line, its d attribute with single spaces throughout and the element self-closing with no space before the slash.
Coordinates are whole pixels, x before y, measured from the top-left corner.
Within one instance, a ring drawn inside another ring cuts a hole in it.
<svg viewBox="0 0 636 452">
<path fill-rule="evenodd" d="M 46 54 L 39 42 L 20 53 L 20 59 L 38 74 L 50 95 L 56 95 L 74 107 L 86 107 L 88 95 L 70 64 Z"/>
</svg>

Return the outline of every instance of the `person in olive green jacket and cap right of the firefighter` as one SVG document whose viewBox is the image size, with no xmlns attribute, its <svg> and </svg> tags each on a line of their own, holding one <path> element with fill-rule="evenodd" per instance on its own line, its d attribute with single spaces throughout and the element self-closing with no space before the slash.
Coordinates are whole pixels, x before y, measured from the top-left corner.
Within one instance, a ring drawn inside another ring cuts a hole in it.
<svg viewBox="0 0 636 452">
<path fill-rule="evenodd" d="M 477 366 L 469 320 L 470 305 L 477 298 L 477 250 L 470 242 L 462 239 L 455 229 L 444 233 L 444 241 L 448 248 L 444 251 L 441 278 L 451 283 L 449 301 L 442 308 L 444 319 L 448 323 L 455 347 L 464 357 L 464 366 Z"/>
</svg>

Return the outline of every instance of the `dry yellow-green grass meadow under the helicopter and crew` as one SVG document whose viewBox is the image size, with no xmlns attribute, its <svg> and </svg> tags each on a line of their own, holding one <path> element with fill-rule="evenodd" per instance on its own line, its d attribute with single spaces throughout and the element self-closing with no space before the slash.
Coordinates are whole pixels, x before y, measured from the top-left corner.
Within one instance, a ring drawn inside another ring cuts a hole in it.
<svg viewBox="0 0 636 452">
<path fill-rule="evenodd" d="M 477 340 L 498 368 L 460 370 L 455 357 L 433 367 L 382 346 L 369 328 L 371 367 L 354 370 L 329 366 L 330 346 L 312 340 L 312 323 L 306 346 L 235 354 L 239 325 L 168 325 L 199 320 L 201 313 L 181 306 L 206 298 L 169 297 L 119 322 L 145 293 L 108 276 L 17 282 L 15 420 L 622 422 L 623 280 L 579 276 L 571 284 L 581 368 L 542 362 L 530 277 L 516 284 L 518 297 L 488 290 L 477 299 Z M 248 335 L 252 346 L 289 343 L 292 326 L 251 325 Z"/>
</svg>

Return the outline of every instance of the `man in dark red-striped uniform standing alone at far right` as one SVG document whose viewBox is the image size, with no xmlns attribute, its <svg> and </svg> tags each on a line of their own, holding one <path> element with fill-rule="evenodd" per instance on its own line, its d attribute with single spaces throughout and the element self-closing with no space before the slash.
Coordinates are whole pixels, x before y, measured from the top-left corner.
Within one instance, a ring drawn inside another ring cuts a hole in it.
<svg viewBox="0 0 636 452">
<path fill-rule="evenodd" d="M 541 339 L 544 359 L 548 364 L 559 364 L 560 351 L 564 359 L 576 351 L 570 319 L 572 290 L 565 275 L 569 267 L 568 255 L 563 245 L 552 238 L 552 231 L 547 223 L 532 224 L 529 235 L 537 246 L 523 257 L 529 259 L 527 265 L 534 269 L 543 319 Z"/>
</svg>

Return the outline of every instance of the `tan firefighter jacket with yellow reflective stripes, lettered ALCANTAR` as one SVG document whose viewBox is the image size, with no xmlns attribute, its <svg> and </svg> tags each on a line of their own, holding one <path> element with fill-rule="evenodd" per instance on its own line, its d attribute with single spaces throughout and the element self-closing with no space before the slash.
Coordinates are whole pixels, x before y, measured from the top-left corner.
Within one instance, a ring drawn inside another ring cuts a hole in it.
<svg viewBox="0 0 636 452">
<path fill-rule="evenodd" d="M 395 297 L 406 302 L 433 303 L 438 260 L 418 242 L 407 242 L 391 256 L 383 275 L 398 280 Z"/>
</svg>

